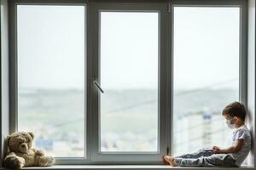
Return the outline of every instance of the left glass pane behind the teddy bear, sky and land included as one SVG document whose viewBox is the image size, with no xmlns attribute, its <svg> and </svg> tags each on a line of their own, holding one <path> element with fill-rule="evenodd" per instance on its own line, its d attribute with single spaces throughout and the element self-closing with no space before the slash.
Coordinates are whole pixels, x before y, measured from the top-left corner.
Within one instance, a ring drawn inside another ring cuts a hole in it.
<svg viewBox="0 0 256 170">
<path fill-rule="evenodd" d="M 84 157 L 84 6 L 18 5 L 18 128 Z"/>
</svg>

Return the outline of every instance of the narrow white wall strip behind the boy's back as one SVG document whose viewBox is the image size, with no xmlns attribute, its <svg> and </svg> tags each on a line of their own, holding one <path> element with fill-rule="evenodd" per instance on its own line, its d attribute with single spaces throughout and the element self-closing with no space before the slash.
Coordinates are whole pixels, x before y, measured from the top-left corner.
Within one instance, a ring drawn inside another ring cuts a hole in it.
<svg viewBox="0 0 256 170">
<path fill-rule="evenodd" d="M 255 0 L 248 0 L 248 83 L 247 83 L 247 111 L 248 124 L 253 133 L 253 150 L 247 159 L 248 165 L 253 165 L 256 161 L 255 143 Z"/>
</svg>

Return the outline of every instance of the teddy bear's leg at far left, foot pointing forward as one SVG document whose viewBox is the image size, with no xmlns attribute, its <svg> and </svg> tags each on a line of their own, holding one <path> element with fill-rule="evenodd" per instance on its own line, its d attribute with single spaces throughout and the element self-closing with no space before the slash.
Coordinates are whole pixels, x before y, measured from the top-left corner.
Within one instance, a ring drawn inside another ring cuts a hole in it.
<svg viewBox="0 0 256 170">
<path fill-rule="evenodd" d="M 9 154 L 4 159 L 4 167 L 9 169 L 20 169 L 25 166 L 25 159 L 20 156 L 16 156 L 15 154 Z"/>
</svg>

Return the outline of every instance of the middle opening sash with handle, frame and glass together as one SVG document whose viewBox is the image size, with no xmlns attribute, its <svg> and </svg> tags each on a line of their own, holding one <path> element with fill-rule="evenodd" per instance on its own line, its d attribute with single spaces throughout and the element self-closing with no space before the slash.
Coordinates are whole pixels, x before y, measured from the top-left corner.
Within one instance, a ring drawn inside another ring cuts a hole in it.
<svg viewBox="0 0 256 170">
<path fill-rule="evenodd" d="M 98 40 L 91 44 L 96 47 L 92 74 L 104 91 L 93 84 L 96 161 L 154 164 L 166 153 L 165 79 L 160 77 L 165 9 L 165 3 L 92 4 Z"/>
</svg>

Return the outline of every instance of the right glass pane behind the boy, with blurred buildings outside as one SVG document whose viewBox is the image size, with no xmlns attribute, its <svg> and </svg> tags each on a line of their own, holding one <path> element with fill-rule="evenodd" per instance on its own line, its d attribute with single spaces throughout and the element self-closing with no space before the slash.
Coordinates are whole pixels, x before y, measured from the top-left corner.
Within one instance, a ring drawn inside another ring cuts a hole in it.
<svg viewBox="0 0 256 170">
<path fill-rule="evenodd" d="M 239 100 L 240 8 L 174 8 L 174 155 L 229 144 L 222 110 Z"/>
</svg>

